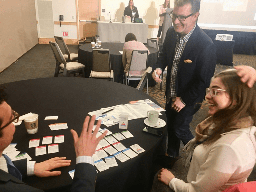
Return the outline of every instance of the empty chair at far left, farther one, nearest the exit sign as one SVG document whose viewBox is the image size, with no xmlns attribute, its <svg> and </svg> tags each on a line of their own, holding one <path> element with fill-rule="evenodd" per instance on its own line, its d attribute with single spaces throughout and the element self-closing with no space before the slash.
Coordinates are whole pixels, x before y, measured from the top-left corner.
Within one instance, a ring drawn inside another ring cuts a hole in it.
<svg viewBox="0 0 256 192">
<path fill-rule="evenodd" d="M 63 39 L 63 37 L 54 36 L 56 43 L 59 45 L 59 48 L 66 59 L 67 62 L 76 61 L 78 59 L 78 54 L 69 53 L 68 47 Z"/>
</svg>

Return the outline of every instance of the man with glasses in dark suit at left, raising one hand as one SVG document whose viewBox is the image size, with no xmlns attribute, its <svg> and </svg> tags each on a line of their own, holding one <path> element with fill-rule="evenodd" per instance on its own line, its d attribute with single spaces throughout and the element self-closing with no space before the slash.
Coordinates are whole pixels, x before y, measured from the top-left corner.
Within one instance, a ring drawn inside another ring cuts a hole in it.
<svg viewBox="0 0 256 192">
<path fill-rule="evenodd" d="M 22 182 L 22 178 L 36 175 L 38 177 L 58 176 L 60 171 L 51 171 L 55 168 L 69 166 L 71 161 L 65 160 L 66 157 L 55 157 L 41 163 L 35 161 L 27 161 L 22 159 L 11 161 L 11 159 L 3 154 L 6 147 L 13 140 L 15 126 L 12 122 L 18 122 L 19 114 L 13 111 L 6 103 L 8 95 L 0 86 L 0 191 L 14 192 L 29 192 L 42 191 L 31 187 Z M 92 155 L 99 141 L 106 135 L 105 131 L 99 138 L 96 138 L 101 121 L 98 121 L 95 134 L 92 134 L 95 115 L 87 116 L 84 121 L 83 129 L 80 138 L 77 133 L 71 130 L 74 138 L 74 146 L 76 152 L 76 167 L 75 175 L 72 183 L 72 192 L 75 191 L 95 191 L 96 170 L 93 164 Z M 88 132 L 87 132 L 88 131 Z M 89 144 L 89 145 L 88 145 Z"/>
</svg>

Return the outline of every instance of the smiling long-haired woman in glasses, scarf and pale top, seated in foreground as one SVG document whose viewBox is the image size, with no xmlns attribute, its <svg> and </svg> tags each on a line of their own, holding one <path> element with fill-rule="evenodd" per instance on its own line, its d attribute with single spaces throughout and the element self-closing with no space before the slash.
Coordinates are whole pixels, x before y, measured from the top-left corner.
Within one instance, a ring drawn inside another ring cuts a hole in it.
<svg viewBox="0 0 256 192">
<path fill-rule="evenodd" d="M 239 69 L 239 68 L 238 68 Z M 255 70 L 254 70 L 255 71 Z M 209 115 L 184 147 L 192 151 L 189 183 L 162 169 L 158 180 L 175 192 L 220 192 L 246 182 L 256 163 L 256 84 L 243 81 L 235 69 L 218 73 L 207 90 Z M 255 75 L 254 75 L 255 76 Z M 253 77 L 255 79 L 255 77 Z"/>
</svg>

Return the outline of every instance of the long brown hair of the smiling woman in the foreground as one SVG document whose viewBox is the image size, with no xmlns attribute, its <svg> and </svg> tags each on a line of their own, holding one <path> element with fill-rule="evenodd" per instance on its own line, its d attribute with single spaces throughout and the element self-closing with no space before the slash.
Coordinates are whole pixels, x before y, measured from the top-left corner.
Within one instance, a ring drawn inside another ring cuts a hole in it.
<svg viewBox="0 0 256 192">
<path fill-rule="evenodd" d="M 236 70 L 225 70 L 214 76 L 219 77 L 230 97 L 231 103 L 228 107 L 218 110 L 213 115 L 213 122 L 216 124 L 214 132 L 209 139 L 204 142 L 210 144 L 220 138 L 220 134 L 235 130 L 231 126 L 235 121 L 250 116 L 252 125 L 256 125 L 256 85 L 249 88 L 241 82 Z M 236 128 L 239 129 L 239 128 Z"/>
</svg>

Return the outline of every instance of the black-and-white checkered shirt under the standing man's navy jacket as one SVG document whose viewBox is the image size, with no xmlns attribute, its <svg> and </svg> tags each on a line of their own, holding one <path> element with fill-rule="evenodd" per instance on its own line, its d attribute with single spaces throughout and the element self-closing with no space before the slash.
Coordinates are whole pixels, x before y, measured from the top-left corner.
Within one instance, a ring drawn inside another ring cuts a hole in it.
<svg viewBox="0 0 256 192">
<path fill-rule="evenodd" d="M 189 37 L 192 35 L 193 31 L 196 28 L 196 24 L 193 27 L 193 29 L 184 37 L 180 37 L 180 33 L 177 34 L 177 43 L 175 47 L 175 52 L 174 52 L 174 59 L 173 59 L 173 68 L 174 72 L 173 75 L 170 73 L 170 91 L 166 97 L 166 102 L 169 103 L 171 99 L 175 99 L 177 97 L 177 92 L 175 89 L 175 83 L 176 83 L 176 78 L 177 78 L 177 71 L 178 71 L 178 65 L 180 62 L 181 55 L 185 49 L 186 43 L 188 42 Z M 183 101 L 182 98 L 180 98 L 181 102 L 186 105 Z"/>
</svg>

